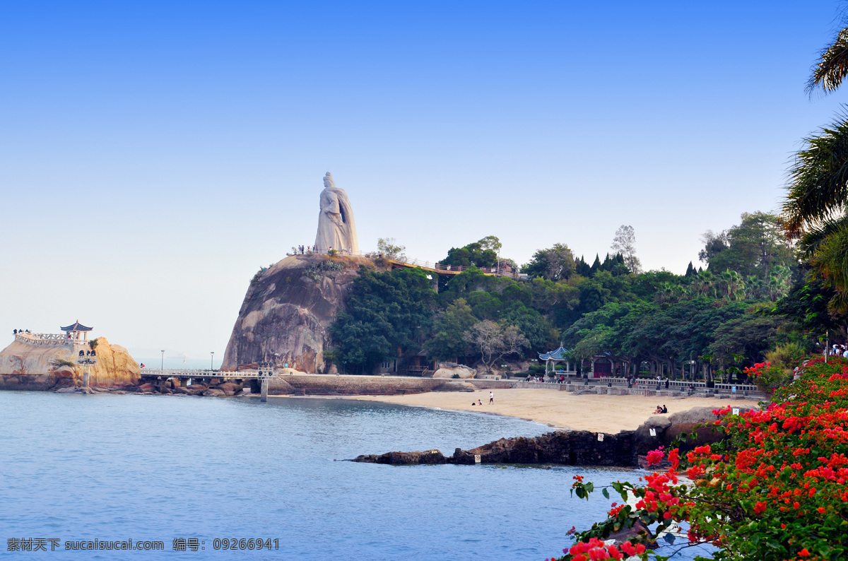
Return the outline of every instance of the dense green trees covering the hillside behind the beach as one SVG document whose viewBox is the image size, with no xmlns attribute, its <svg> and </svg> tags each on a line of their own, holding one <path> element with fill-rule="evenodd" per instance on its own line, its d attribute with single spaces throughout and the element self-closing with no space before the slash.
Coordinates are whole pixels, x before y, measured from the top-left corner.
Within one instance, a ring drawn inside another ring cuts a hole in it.
<svg viewBox="0 0 848 561">
<path fill-rule="evenodd" d="M 604 353 L 621 364 L 620 375 L 740 376 L 780 345 L 811 351 L 823 331 L 840 330 L 827 309 L 833 289 L 799 266 L 779 225 L 773 214 L 757 212 L 727 231 L 707 232 L 700 252 L 707 268 L 689 264 L 685 275 L 633 274 L 626 264 L 639 263 L 633 231 L 622 226 L 613 246 L 629 257 L 607 253 L 588 264 L 558 243 L 533 253 L 522 267 L 526 280 L 494 276 L 488 268 L 497 264 L 501 244 L 487 236 L 449 250 L 441 263 L 468 269 L 439 277 L 438 294 L 432 281 L 416 277 L 423 292 L 410 296 L 415 307 L 408 310 L 415 336 L 400 326 L 406 296 L 394 289 L 406 285 L 408 272 L 371 271 L 357 281 L 348 313 L 332 328 L 333 354 L 361 372 L 422 350 L 432 360 L 474 363 L 484 353 L 471 344 L 471 328 L 489 321 L 514 326 L 527 340 L 507 360 L 534 358 L 562 342 L 575 360 Z M 381 240 L 383 250 L 400 251 L 391 242 Z"/>
</svg>

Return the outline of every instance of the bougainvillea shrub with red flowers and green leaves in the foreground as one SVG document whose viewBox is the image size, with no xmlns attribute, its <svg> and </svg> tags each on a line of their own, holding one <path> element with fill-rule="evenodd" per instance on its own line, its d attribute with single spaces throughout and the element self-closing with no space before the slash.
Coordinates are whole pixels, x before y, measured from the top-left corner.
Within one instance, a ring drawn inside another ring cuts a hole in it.
<svg viewBox="0 0 848 561">
<path fill-rule="evenodd" d="M 635 505 L 613 503 L 609 518 L 577 532 L 560 559 L 623 553 L 662 560 L 645 547 L 678 522 L 689 523 L 689 544 L 718 547 L 717 560 L 848 558 L 848 361 L 814 358 L 799 373 L 774 392 L 767 408 L 739 415 L 729 406 L 715 410 L 722 442 L 695 447 L 683 458 L 678 448 L 650 453 L 650 462 L 667 459 L 671 467 L 638 484 L 612 484 L 625 502 L 628 494 L 635 497 Z M 593 491 L 582 478 L 572 488 L 578 497 Z M 606 488 L 603 494 L 609 497 Z M 611 533 L 639 522 L 650 530 L 617 547 L 605 544 Z"/>
</svg>

